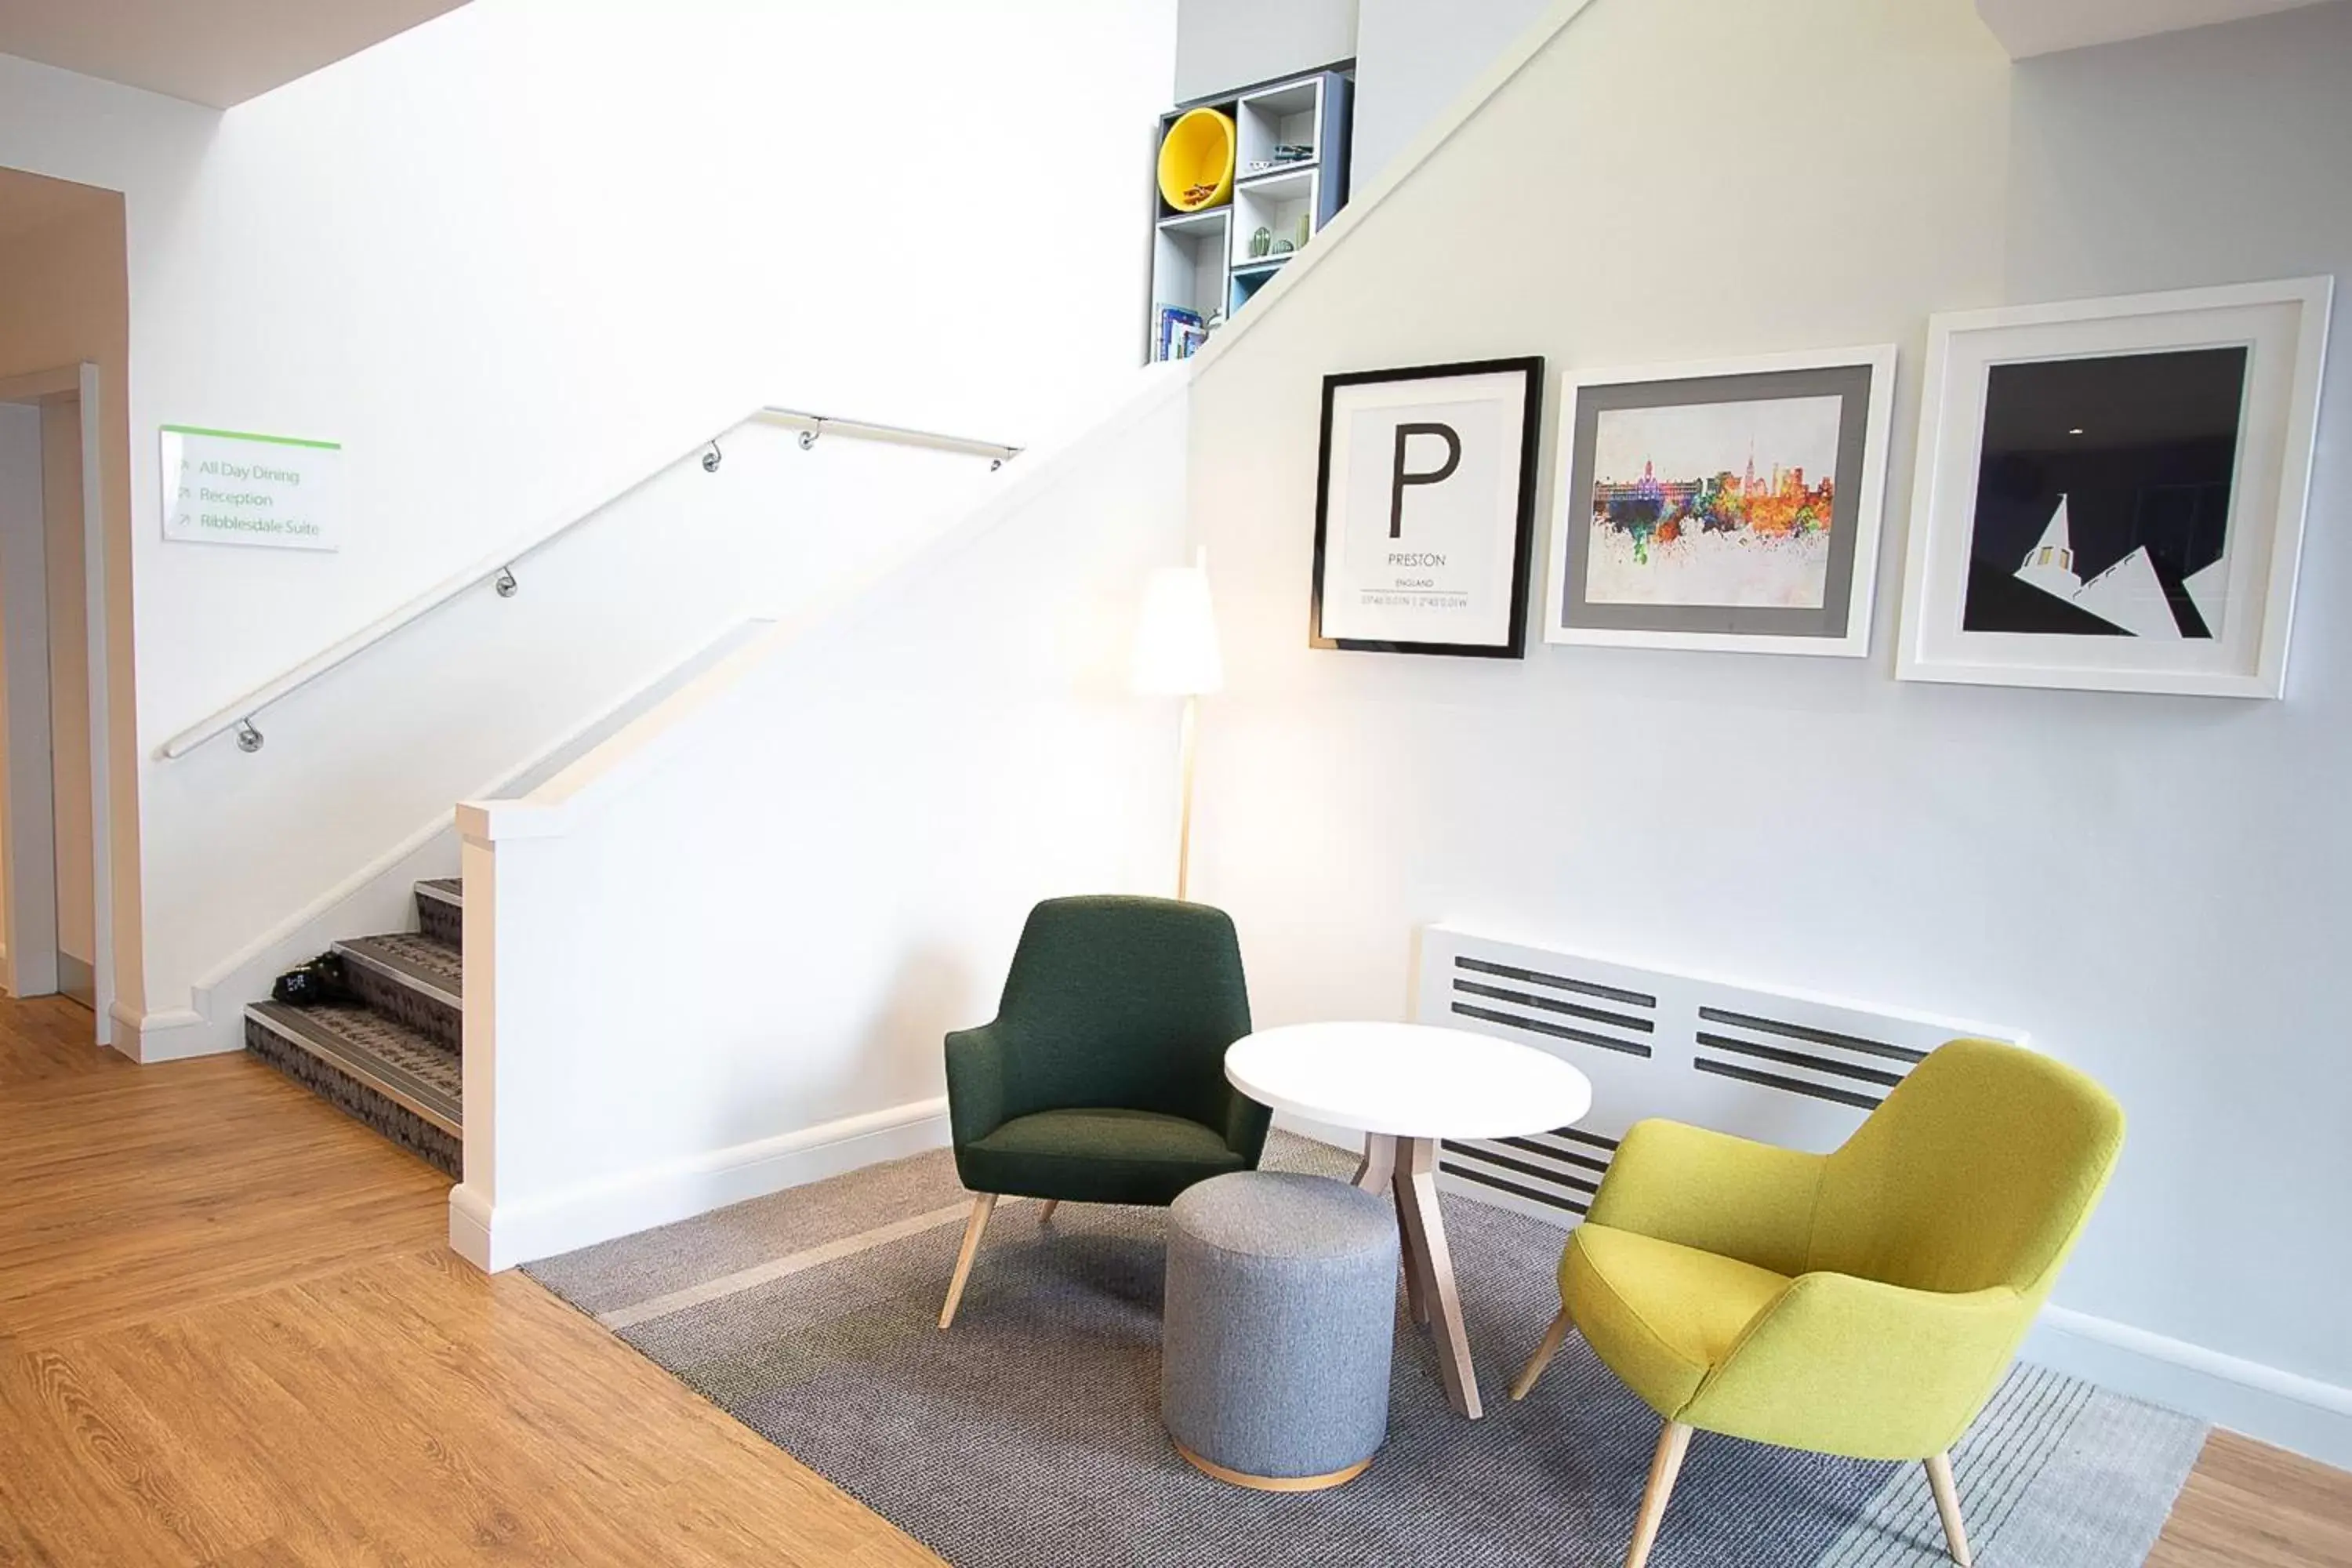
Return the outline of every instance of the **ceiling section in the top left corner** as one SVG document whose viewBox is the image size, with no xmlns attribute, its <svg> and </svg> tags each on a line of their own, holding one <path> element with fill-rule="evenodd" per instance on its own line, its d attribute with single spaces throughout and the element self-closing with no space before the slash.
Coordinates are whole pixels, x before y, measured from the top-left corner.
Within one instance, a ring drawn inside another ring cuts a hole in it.
<svg viewBox="0 0 2352 1568">
<path fill-rule="evenodd" d="M 463 0 L 0 0 L 0 54 L 228 108 Z"/>
</svg>

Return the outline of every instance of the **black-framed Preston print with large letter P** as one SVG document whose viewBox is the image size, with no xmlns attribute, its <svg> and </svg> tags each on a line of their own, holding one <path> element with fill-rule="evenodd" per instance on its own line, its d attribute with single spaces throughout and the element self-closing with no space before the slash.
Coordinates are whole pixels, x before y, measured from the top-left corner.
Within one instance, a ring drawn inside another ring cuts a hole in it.
<svg viewBox="0 0 2352 1568">
<path fill-rule="evenodd" d="M 1317 649 L 1526 656 L 1543 360 L 1324 376 Z"/>
</svg>

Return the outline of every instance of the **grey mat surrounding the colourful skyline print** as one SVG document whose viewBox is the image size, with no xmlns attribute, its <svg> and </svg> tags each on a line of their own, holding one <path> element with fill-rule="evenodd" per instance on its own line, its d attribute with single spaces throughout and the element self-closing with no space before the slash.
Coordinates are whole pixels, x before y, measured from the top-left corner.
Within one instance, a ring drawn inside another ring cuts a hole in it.
<svg viewBox="0 0 2352 1568">
<path fill-rule="evenodd" d="M 1755 371 L 1736 376 L 1675 376 L 1576 388 L 1569 433 L 1566 550 L 1559 597 L 1562 630 L 1611 632 L 1729 632 L 1743 637 L 1844 637 L 1853 604 L 1853 550 L 1863 517 L 1863 463 L 1870 447 L 1870 364 Z M 1837 397 L 1837 498 L 1830 512 L 1830 569 L 1820 609 L 1736 604 L 1592 604 L 1585 574 L 1592 559 L 1592 449 L 1599 416 L 1611 409 L 1672 409 L 1708 402 L 1769 402 Z"/>
</svg>

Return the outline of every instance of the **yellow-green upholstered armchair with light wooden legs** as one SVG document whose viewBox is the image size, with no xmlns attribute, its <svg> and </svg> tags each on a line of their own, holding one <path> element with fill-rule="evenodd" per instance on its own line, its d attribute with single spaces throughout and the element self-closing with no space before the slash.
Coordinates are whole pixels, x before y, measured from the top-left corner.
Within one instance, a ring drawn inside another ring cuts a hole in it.
<svg viewBox="0 0 2352 1568">
<path fill-rule="evenodd" d="M 1929 1053 L 1835 1154 L 1675 1121 L 1623 1140 L 1559 1260 L 1559 1316 L 1665 1420 L 1628 1568 L 1691 1432 L 1922 1460 L 1969 1563 L 1950 1448 L 1999 1387 L 2124 1147 L 2107 1091 L 1985 1039 Z"/>
</svg>

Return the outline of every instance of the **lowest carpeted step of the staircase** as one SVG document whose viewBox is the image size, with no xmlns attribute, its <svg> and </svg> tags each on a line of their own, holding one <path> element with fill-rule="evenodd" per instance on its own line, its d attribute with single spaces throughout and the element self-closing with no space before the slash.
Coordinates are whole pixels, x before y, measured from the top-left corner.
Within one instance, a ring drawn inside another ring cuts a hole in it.
<svg viewBox="0 0 2352 1568">
<path fill-rule="evenodd" d="M 463 1070 L 454 1051 L 365 1006 L 245 1009 L 245 1048 L 412 1154 L 463 1178 Z"/>
</svg>

